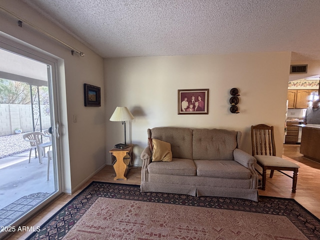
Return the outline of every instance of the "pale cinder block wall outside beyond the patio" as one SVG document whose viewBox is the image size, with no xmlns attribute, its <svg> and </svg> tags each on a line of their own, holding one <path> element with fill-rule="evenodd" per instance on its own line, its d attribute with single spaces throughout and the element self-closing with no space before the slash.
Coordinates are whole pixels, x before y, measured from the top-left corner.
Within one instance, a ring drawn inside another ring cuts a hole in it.
<svg viewBox="0 0 320 240">
<path fill-rule="evenodd" d="M 41 108 L 42 129 L 50 126 L 50 116 L 45 114 L 45 105 Z M 22 132 L 33 131 L 31 105 L 0 104 L 0 136 L 15 134 L 16 128 Z"/>
</svg>

